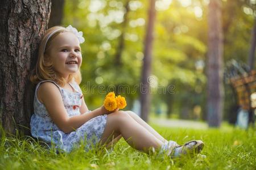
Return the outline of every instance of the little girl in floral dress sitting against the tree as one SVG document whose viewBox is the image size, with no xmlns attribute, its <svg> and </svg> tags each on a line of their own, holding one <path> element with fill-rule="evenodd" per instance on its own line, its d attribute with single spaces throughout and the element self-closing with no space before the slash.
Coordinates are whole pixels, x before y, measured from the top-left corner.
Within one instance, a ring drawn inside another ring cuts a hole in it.
<svg viewBox="0 0 256 170">
<path fill-rule="evenodd" d="M 109 112 L 104 105 L 89 111 L 78 85 L 82 42 L 82 32 L 71 25 L 52 27 L 44 33 L 30 78 L 37 84 L 30 123 L 33 137 L 66 152 L 79 146 L 81 140 L 88 149 L 97 143 L 113 145 L 122 137 L 131 147 L 146 153 L 156 149 L 177 157 L 201 151 L 202 141 L 183 146 L 167 141 L 134 112 Z"/>
</svg>

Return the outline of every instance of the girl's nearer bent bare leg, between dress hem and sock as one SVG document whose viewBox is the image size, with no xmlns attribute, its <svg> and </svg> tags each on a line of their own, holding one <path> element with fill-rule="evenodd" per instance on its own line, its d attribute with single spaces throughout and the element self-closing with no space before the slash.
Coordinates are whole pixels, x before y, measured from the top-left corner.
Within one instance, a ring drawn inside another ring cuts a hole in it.
<svg viewBox="0 0 256 170">
<path fill-rule="evenodd" d="M 148 149 L 151 147 L 159 148 L 163 145 L 162 141 L 151 134 L 125 111 L 108 114 L 101 143 L 109 143 L 120 134 L 131 147 L 140 151 L 148 152 Z"/>
</svg>

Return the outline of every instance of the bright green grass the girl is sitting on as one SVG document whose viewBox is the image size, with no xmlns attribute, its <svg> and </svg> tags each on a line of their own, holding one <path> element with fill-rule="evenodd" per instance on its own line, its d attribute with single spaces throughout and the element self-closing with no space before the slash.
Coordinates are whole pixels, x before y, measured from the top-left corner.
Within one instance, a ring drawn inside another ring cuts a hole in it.
<svg viewBox="0 0 256 170">
<path fill-rule="evenodd" d="M 70 154 L 55 154 L 28 137 L 1 135 L 0 169 L 256 169 L 256 131 L 234 128 L 192 130 L 152 125 L 167 139 L 184 143 L 201 139 L 207 158 L 147 155 L 128 146 L 123 139 L 113 151 L 82 147 Z"/>
</svg>

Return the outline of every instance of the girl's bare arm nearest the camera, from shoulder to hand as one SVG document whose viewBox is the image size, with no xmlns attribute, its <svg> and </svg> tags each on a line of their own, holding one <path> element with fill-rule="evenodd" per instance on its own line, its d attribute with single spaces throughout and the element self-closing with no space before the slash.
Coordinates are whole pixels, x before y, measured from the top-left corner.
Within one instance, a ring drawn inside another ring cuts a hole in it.
<svg viewBox="0 0 256 170">
<path fill-rule="evenodd" d="M 60 130 L 64 131 L 64 133 L 70 133 L 79 128 L 86 121 L 106 113 L 105 108 L 101 107 L 88 114 L 69 117 L 58 87 L 51 82 L 46 82 L 39 86 L 38 98 L 46 107 L 52 121 Z"/>
</svg>

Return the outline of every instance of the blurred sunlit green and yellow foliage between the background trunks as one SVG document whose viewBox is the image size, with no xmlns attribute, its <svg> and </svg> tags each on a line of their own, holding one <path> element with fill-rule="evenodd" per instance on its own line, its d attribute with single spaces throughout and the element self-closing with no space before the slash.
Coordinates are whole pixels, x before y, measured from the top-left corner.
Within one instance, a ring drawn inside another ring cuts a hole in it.
<svg viewBox="0 0 256 170">
<path fill-rule="evenodd" d="M 224 66 L 230 59 L 247 62 L 254 25 L 254 1 L 222 1 Z M 64 25 L 84 32 L 81 87 L 90 109 L 109 91 L 117 91 L 132 109 L 139 99 L 146 0 L 66 0 Z M 157 0 L 152 45 L 151 113 L 206 119 L 208 0 Z M 225 86 L 224 119 L 234 104 Z M 232 111 L 232 112 L 230 112 Z"/>
</svg>

